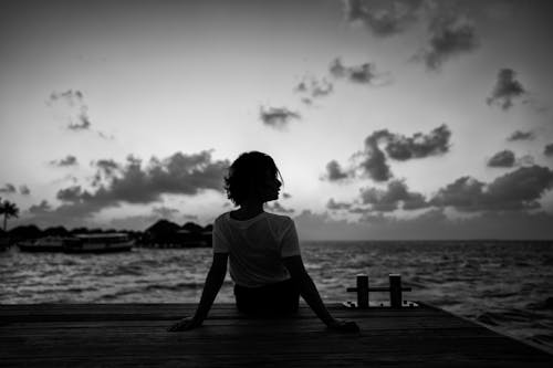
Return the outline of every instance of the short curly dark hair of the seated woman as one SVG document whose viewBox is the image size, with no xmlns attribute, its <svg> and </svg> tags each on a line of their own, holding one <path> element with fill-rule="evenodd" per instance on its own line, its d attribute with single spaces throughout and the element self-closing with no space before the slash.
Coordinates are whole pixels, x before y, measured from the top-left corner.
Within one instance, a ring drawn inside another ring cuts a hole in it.
<svg viewBox="0 0 553 368">
<path fill-rule="evenodd" d="M 283 181 L 271 156 L 259 151 L 241 154 L 229 167 L 225 177 L 227 197 L 236 206 L 240 206 L 251 197 L 252 188 L 261 187 L 264 183 L 267 171 Z"/>
</svg>

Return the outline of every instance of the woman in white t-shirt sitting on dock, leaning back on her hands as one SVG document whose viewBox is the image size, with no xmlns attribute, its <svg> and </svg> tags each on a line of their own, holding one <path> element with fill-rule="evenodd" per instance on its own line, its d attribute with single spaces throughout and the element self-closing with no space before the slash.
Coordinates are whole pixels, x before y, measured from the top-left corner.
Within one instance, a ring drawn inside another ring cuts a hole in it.
<svg viewBox="0 0 553 368">
<path fill-rule="evenodd" d="M 258 151 L 240 155 L 230 166 L 225 188 L 239 209 L 215 221 L 213 261 L 195 315 L 168 330 L 201 326 L 225 281 L 229 259 L 239 312 L 267 317 L 293 315 L 301 295 L 328 328 L 358 330 L 354 322 L 335 319 L 324 306 L 303 265 L 293 220 L 263 211 L 264 202 L 279 198 L 279 177 L 282 179 L 273 159 Z"/>
</svg>

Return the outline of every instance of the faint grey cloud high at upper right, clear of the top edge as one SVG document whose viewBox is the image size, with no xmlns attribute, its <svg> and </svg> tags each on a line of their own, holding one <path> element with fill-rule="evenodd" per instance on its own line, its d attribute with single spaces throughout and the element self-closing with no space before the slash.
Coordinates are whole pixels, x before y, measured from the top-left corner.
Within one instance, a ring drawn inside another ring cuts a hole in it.
<svg viewBox="0 0 553 368">
<path fill-rule="evenodd" d="M 431 71 L 440 70 L 446 61 L 472 52 L 479 46 L 474 27 L 462 17 L 438 14 L 428 30 L 428 44 L 415 55 L 415 60 L 422 61 Z"/>
</svg>

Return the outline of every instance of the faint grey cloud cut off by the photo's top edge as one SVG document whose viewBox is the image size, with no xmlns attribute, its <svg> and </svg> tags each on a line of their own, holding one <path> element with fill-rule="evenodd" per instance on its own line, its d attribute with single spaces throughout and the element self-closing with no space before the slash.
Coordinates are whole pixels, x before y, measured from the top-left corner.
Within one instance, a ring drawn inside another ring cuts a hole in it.
<svg viewBox="0 0 553 368">
<path fill-rule="evenodd" d="M 417 10 L 422 1 L 344 1 L 346 20 L 362 21 L 376 36 L 388 36 L 404 32 L 418 15 Z"/>
</svg>

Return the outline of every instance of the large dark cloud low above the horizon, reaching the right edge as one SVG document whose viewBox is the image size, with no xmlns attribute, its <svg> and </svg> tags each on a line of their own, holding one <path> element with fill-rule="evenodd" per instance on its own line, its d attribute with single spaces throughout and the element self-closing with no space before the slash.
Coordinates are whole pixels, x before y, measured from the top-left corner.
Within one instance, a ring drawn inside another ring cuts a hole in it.
<svg viewBox="0 0 553 368">
<path fill-rule="evenodd" d="M 441 188 L 430 200 L 432 206 L 453 207 L 459 211 L 509 211 L 540 207 L 538 200 L 553 187 L 553 171 L 546 167 L 521 167 L 486 185 L 462 177 Z"/>
</svg>

